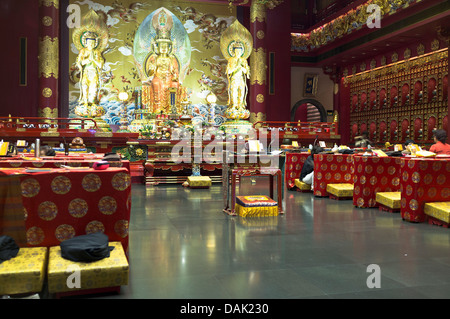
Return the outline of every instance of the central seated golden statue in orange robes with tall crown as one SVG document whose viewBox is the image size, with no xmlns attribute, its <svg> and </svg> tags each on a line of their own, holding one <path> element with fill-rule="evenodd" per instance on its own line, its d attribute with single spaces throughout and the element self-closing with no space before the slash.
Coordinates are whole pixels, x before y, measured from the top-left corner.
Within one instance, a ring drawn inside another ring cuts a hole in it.
<svg viewBox="0 0 450 319">
<path fill-rule="evenodd" d="M 144 63 L 150 109 L 158 114 L 178 113 L 179 101 L 184 100 L 186 93 L 180 84 L 180 64 L 173 53 L 176 40 L 171 39 L 172 17 L 160 10 L 153 16 L 152 24 L 156 36 Z"/>
</svg>

